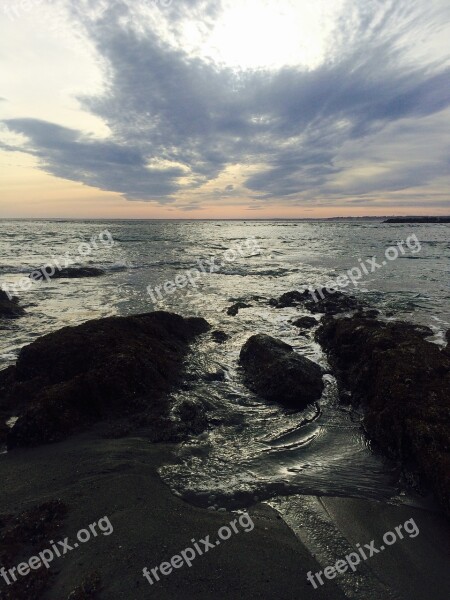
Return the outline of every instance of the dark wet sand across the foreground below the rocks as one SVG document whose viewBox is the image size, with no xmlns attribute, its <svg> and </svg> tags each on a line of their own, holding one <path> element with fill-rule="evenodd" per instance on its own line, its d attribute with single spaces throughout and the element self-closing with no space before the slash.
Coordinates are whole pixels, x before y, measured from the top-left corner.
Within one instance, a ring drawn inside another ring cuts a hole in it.
<svg viewBox="0 0 450 600">
<path fill-rule="evenodd" d="M 340 589 L 337 580 L 313 589 L 306 573 L 326 566 L 311 551 L 314 534 L 305 529 L 296 535 L 264 504 L 249 511 L 253 531 L 240 531 L 197 557 L 191 568 L 183 566 L 150 586 L 142 576 L 145 566 L 152 569 L 170 561 L 191 545 L 192 538 L 211 535 L 216 539 L 218 529 L 236 518 L 233 513 L 193 507 L 170 492 L 157 468 L 173 460 L 171 449 L 169 444 L 150 444 L 144 438 L 104 439 L 91 431 L 0 457 L 0 513 L 18 513 L 58 498 L 67 504 L 68 516 L 55 539 L 68 536 L 73 540 L 78 530 L 103 516 L 114 527 L 111 535 L 93 538 L 55 560 L 54 578 L 43 600 L 64 600 L 93 572 L 99 573 L 102 584 L 98 598 L 105 600 L 352 597 Z M 365 500 L 300 498 L 320 506 L 353 546 L 380 539 L 385 531 L 414 516 L 420 535 L 372 558 L 365 568 L 381 583 L 380 589 L 398 592 L 399 598 L 447 600 L 450 529 L 440 514 Z M 300 503 L 299 510 L 308 518 L 306 505 Z M 329 546 L 330 556 L 341 558 L 341 546 L 336 543 L 334 547 L 333 536 Z M 356 579 L 358 574 L 351 577 Z"/>
</svg>

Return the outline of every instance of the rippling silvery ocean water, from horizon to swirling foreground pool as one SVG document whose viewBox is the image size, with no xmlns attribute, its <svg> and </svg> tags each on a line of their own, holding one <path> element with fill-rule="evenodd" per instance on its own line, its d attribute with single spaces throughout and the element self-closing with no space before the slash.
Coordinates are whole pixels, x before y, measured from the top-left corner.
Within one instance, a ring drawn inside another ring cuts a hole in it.
<svg viewBox="0 0 450 600">
<path fill-rule="evenodd" d="M 326 366 L 314 336 L 299 335 L 291 324 L 307 313 L 274 308 L 267 300 L 324 286 L 349 271 L 356 285 L 344 291 L 384 318 L 430 327 L 432 341 L 443 344 L 450 328 L 449 234 L 445 224 L 373 219 L 3 220 L 0 284 L 17 286 L 26 316 L 3 322 L 0 368 L 36 337 L 86 320 L 153 310 L 203 316 L 229 339 L 217 344 L 207 335 L 193 346 L 189 377 L 172 400 L 195 398 L 216 426 L 181 444 L 176 464 L 160 469 L 175 494 L 214 510 L 298 494 L 414 503 L 396 465 L 370 448 L 362 415 L 337 403 L 333 377 L 325 376 L 315 406 L 289 411 L 262 402 L 243 385 L 238 356 L 246 339 L 261 332 Z M 37 267 L 57 269 L 67 260 L 105 274 L 30 283 Z M 227 314 L 238 301 L 249 306 Z M 205 371 L 207 380 L 199 376 Z"/>
</svg>

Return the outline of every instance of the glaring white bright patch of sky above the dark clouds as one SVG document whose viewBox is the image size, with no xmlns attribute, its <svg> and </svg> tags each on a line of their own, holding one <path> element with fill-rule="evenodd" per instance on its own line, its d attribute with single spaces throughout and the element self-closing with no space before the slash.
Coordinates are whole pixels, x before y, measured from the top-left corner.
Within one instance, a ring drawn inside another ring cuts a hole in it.
<svg viewBox="0 0 450 600">
<path fill-rule="evenodd" d="M 241 69 L 312 69 L 325 58 L 341 0 L 229 0 L 206 34 L 192 22 L 181 45 L 199 56 Z"/>
</svg>

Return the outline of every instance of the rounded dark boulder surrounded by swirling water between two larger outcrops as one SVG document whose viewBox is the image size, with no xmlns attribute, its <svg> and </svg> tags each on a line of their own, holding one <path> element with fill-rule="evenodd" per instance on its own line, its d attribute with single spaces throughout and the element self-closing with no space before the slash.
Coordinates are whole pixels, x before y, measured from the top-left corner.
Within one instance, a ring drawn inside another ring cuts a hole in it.
<svg viewBox="0 0 450 600">
<path fill-rule="evenodd" d="M 304 408 L 322 395 L 321 367 L 268 335 L 249 338 L 240 363 L 247 386 L 270 402 Z"/>
</svg>

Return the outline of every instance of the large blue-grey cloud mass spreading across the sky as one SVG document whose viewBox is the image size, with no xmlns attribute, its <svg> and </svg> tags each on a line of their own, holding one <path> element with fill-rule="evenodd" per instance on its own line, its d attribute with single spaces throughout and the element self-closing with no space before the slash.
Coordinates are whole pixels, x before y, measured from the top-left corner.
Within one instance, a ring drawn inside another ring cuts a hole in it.
<svg viewBox="0 0 450 600">
<path fill-rule="evenodd" d="M 108 92 L 82 102 L 108 124 L 110 138 L 87 138 L 32 119 L 6 122 L 29 138 L 28 150 L 49 173 L 130 200 L 167 202 L 235 164 L 255 166 L 245 187 L 251 197 L 266 201 L 295 201 L 308 192 L 400 190 L 432 183 L 448 170 L 444 161 L 430 164 L 426 154 L 423 164 L 415 156 L 408 168 L 409 144 L 403 163 L 395 166 L 392 160 L 388 174 L 370 175 L 345 189 L 334 182 L 351 166 L 341 160 L 345 144 L 357 145 L 392 123 L 419 122 L 450 106 L 450 68 L 437 59 L 408 61 L 402 45 L 419 26 L 419 15 L 422 30 L 432 32 L 447 10 L 444 4 L 436 3 L 433 12 L 420 10 L 422 2 L 386 3 L 382 18 L 375 18 L 371 7 L 377 3 L 369 2 L 361 5 L 358 20 L 344 15 L 345 44 L 337 40 L 334 55 L 317 69 L 240 73 L 189 57 L 155 32 L 143 35 L 131 25 L 135 17 L 124 2 L 111 2 L 98 19 L 83 16 L 87 6 L 74 10 L 107 65 Z M 178 0 L 164 10 L 176 30 L 188 17 L 201 16 L 208 26 L 219 8 L 217 2 Z M 417 144 L 424 135 L 422 128 Z"/>
</svg>

